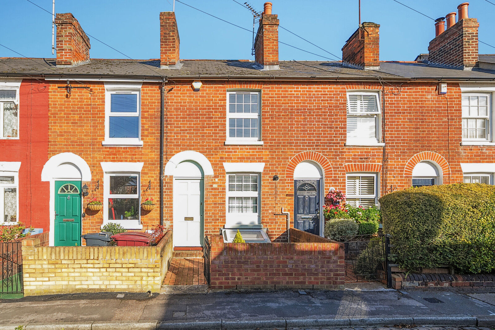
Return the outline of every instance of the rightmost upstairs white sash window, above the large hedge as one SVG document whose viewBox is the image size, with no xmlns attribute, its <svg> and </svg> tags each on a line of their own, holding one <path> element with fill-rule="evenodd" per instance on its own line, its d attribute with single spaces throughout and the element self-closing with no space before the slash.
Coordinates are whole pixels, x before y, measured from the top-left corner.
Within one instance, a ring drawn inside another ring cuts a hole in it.
<svg viewBox="0 0 495 330">
<path fill-rule="evenodd" d="M 462 94 L 462 140 L 491 141 L 490 94 Z"/>
</svg>

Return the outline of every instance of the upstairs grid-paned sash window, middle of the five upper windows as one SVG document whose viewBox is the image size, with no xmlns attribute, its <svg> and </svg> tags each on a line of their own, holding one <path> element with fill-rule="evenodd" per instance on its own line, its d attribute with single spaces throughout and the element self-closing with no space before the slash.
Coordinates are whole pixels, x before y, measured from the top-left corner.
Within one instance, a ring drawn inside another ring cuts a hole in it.
<svg viewBox="0 0 495 330">
<path fill-rule="evenodd" d="M 259 141 L 260 113 L 259 92 L 227 92 L 227 141 Z"/>
</svg>

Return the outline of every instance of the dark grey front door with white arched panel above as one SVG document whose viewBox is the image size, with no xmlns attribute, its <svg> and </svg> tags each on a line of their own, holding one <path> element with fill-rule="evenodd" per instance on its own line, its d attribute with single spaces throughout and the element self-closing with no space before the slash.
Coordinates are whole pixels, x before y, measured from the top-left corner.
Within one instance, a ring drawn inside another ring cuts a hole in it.
<svg viewBox="0 0 495 330">
<path fill-rule="evenodd" d="M 294 169 L 294 227 L 323 236 L 324 172 L 316 162 Z"/>
</svg>

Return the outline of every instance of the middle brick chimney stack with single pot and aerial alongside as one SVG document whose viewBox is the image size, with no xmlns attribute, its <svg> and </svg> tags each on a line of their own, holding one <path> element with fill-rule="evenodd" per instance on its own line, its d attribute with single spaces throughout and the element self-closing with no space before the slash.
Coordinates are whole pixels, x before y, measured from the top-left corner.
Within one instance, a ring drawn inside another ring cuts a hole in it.
<svg viewBox="0 0 495 330">
<path fill-rule="evenodd" d="M 254 40 L 254 60 L 261 70 L 279 70 L 278 16 L 272 14 L 272 3 L 265 2 Z"/>
</svg>

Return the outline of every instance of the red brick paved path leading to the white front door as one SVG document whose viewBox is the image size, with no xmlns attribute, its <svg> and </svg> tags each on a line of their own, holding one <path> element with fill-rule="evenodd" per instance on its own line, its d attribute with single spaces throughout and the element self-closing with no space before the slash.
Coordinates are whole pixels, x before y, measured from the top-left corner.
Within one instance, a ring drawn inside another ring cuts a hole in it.
<svg viewBox="0 0 495 330">
<path fill-rule="evenodd" d="M 172 258 L 163 285 L 203 285 L 206 284 L 203 275 L 202 258 Z"/>
</svg>

